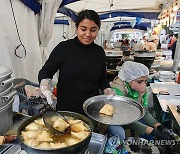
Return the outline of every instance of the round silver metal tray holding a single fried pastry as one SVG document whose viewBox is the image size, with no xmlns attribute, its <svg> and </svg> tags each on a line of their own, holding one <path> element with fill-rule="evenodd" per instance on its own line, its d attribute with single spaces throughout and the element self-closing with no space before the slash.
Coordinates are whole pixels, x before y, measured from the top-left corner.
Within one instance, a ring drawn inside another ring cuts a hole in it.
<svg viewBox="0 0 180 154">
<path fill-rule="evenodd" d="M 110 104 L 114 108 L 112 116 L 101 116 L 99 110 Z M 109 125 L 127 125 L 141 119 L 145 114 L 144 107 L 138 102 L 124 96 L 99 95 L 83 103 L 84 112 L 97 122 Z"/>
</svg>

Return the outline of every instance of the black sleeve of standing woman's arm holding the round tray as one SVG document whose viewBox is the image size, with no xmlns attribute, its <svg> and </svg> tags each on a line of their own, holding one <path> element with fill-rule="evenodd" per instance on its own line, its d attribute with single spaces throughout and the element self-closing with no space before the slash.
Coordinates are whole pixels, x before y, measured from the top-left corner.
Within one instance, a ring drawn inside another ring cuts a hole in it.
<svg viewBox="0 0 180 154">
<path fill-rule="evenodd" d="M 102 75 L 101 78 L 99 80 L 99 87 L 101 89 L 101 91 L 103 91 L 106 88 L 110 88 L 109 85 L 109 81 L 107 79 L 107 75 L 106 75 L 106 59 L 105 59 L 105 52 L 104 50 L 101 48 L 102 50 Z"/>
</svg>

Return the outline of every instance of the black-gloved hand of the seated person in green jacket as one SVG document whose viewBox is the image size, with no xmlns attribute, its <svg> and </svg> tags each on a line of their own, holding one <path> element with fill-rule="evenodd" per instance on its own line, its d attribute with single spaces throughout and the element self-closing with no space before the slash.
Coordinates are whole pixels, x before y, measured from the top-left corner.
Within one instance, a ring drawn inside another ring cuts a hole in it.
<svg viewBox="0 0 180 154">
<path fill-rule="evenodd" d="M 159 131 L 158 129 L 155 129 L 155 128 L 151 132 L 151 135 L 157 137 L 157 139 L 160 139 L 160 140 L 174 140 L 174 138 L 171 135 L 164 133 L 162 131 Z"/>
</svg>

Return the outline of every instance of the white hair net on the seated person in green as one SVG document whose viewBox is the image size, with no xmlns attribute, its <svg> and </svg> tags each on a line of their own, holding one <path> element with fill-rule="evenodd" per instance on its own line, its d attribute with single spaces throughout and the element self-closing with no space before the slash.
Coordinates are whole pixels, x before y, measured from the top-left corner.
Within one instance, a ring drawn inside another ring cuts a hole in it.
<svg viewBox="0 0 180 154">
<path fill-rule="evenodd" d="M 118 77 L 122 81 L 130 82 L 147 75 L 149 75 L 149 69 L 144 64 L 126 61 L 122 65 Z"/>
</svg>

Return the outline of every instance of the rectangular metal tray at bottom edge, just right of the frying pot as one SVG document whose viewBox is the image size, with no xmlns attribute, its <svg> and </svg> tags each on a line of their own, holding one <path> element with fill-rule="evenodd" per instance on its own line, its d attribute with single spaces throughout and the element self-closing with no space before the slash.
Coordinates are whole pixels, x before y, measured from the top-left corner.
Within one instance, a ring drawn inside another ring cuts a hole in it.
<svg viewBox="0 0 180 154">
<path fill-rule="evenodd" d="M 88 148 L 89 154 L 103 154 L 106 141 L 106 136 L 92 132 Z"/>
</svg>

